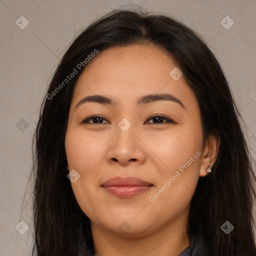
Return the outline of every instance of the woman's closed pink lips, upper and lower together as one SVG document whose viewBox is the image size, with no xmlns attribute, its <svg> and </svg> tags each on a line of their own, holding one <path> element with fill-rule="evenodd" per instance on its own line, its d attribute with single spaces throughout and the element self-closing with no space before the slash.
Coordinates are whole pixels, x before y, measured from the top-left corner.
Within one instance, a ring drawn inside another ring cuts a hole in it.
<svg viewBox="0 0 256 256">
<path fill-rule="evenodd" d="M 118 197 L 132 197 L 148 190 L 153 184 L 135 177 L 114 177 L 106 180 L 101 186 L 110 194 Z"/>
</svg>

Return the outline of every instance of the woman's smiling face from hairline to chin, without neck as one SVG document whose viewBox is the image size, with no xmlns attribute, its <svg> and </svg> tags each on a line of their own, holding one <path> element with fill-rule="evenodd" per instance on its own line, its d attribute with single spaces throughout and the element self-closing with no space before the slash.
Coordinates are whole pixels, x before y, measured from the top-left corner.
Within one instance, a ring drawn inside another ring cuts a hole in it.
<svg viewBox="0 0 256 256">
<path fill-rule="evenodd" d="M 177 71 L 163 51 L 143 44 L 99 52 L 79 76 L 65 149 L 75 198 L 92 226 L 138 236 L 185 226 L 207 173 L 198 103 Z M 113 103 L 83 100 L 95 95 Z"/>
</svg>

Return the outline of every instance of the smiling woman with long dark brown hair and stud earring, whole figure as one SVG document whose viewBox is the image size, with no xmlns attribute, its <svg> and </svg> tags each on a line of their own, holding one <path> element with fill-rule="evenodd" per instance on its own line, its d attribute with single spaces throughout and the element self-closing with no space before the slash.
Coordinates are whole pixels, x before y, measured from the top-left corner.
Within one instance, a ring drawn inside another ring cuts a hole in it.
<svg viewBox="0 0 256 256">
<path fill-rule="evenodd" d="M 195 32 L 141 10 L 104 14 L 44 97 L 32 254 L 256 255 L 239 118 Z"/>
</svg>

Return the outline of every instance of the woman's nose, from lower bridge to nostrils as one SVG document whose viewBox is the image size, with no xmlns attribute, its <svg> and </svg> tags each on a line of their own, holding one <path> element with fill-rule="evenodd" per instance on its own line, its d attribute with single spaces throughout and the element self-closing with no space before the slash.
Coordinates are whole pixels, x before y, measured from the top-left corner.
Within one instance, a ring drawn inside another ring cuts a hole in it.
<svg viewBox="0 0 256 256">
<path fill-rule="evenodd" d="M 145 145 L 134 129 L 135 125 L 124 131 L 117 126 L 115 136 L 109 142 L 107 161 L 111 164 L 138 165 L 145 161 Z"/>
</svg>

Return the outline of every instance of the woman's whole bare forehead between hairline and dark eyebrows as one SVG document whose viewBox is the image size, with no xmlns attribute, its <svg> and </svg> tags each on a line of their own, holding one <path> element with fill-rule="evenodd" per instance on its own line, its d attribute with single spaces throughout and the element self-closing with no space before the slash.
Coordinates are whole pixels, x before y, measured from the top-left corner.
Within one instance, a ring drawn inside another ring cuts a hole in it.
<svg viewBox="0 0 256 256">
<path fill-rule="evenodd" d="M 73 101 L 102 94 L 116 98 L 117 103 L 135 102 L 141 95 L 164 92 L 187 101 L 192 91 L 184 78 L 174 80 L 169 75 L 175 67 L 170 55 L 152 44 L 110 47 L 86 65 L 76 82 Z"/>
</svg>

